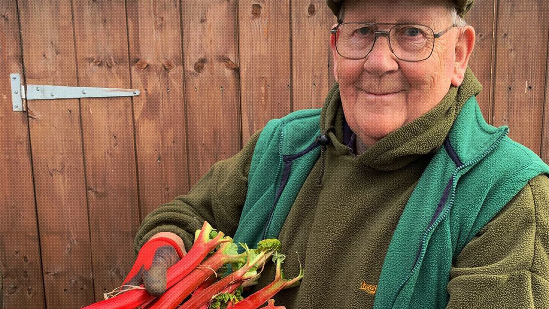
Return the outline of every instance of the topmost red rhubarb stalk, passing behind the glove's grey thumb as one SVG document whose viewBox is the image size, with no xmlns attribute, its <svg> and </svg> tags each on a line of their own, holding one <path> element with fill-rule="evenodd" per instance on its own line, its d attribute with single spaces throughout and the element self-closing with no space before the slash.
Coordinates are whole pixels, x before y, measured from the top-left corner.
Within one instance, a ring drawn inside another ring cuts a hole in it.
<svg viewBox="0 0 549 309">
<path fill-rule="evenodd" d="M 210 239 L 212 230 L 213 228 L 210 223 L 204 221 L 204 225 L 200 229 L 200 233 L 188 254 L 168 268 L 166 273 L 166 289 L 191 273 L 217 246 L 232 241 L 231 238 L 225 237 L 221 231 L 215 238 Z M 140 286 L 143 287 L 143 284 Z M 147 290 L 136 289 L 96 302 L 82 309 L 131 309 L 152 299 L 154 299 L 154 296 L 149 294 Z"/>
</svg>

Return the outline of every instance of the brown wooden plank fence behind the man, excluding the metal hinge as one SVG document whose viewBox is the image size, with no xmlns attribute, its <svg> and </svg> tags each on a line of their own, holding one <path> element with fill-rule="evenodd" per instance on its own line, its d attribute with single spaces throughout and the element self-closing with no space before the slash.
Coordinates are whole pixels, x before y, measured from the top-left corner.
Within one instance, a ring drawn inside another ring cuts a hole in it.
<svg viewBox="0 0 549 309">
<path fill-rule="evenodd" d="M 549 0 L 477 0 L 468 21 L 486 119 L 549 162 Z M 149 211 L 268 119 L 322 105 L 334 22 L 325 0 L 0 0 L 5 307 L 79 308 L 120 285 Z M 10 73 L 142 94 L 13 111 Z"/>
</svg>

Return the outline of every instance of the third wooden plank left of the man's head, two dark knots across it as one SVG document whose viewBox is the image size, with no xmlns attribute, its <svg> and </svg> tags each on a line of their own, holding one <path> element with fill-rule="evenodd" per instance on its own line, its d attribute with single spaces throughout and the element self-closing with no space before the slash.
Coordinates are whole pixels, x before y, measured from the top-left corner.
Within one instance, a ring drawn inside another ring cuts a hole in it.
<svg viewBox="0 0 549 309">
<path fill-rule="evenodd" d="M 182 0 L 191 185 L 242 147 L 236 0 Z"/>
</svg>

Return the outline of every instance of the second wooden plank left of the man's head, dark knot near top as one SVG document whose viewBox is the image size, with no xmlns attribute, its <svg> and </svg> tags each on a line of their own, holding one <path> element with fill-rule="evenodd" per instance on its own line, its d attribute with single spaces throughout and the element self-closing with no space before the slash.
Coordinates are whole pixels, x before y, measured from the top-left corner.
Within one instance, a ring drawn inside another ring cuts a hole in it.
<svg viewBox="0 0 549 309">
<path fill-rule="evenodd" d="M 290 2 L 240 0 L 240 103 L 243 143 L 291 111 Z"/>
</svg>

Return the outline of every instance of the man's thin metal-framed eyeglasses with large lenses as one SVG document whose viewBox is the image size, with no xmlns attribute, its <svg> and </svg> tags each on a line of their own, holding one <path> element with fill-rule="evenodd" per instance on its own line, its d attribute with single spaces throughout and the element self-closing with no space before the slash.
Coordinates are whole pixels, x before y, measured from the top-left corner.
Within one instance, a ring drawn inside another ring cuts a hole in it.
<svg viewBox="0 0 549 309">
<path fill-rule="evenodd" d="M 389 31 L 379 31 L 379 25 L 393 25 Z M 334 27 L 335 49 L 347 59 L 362 59 L 374 48 L 378 36 L 386 36 L 393 54 L 404 61 L 422 61 L 431 56 L 435 38 L 456 27 L 434 33 L 425 25 L 343 23 Z"/>
</svg>

